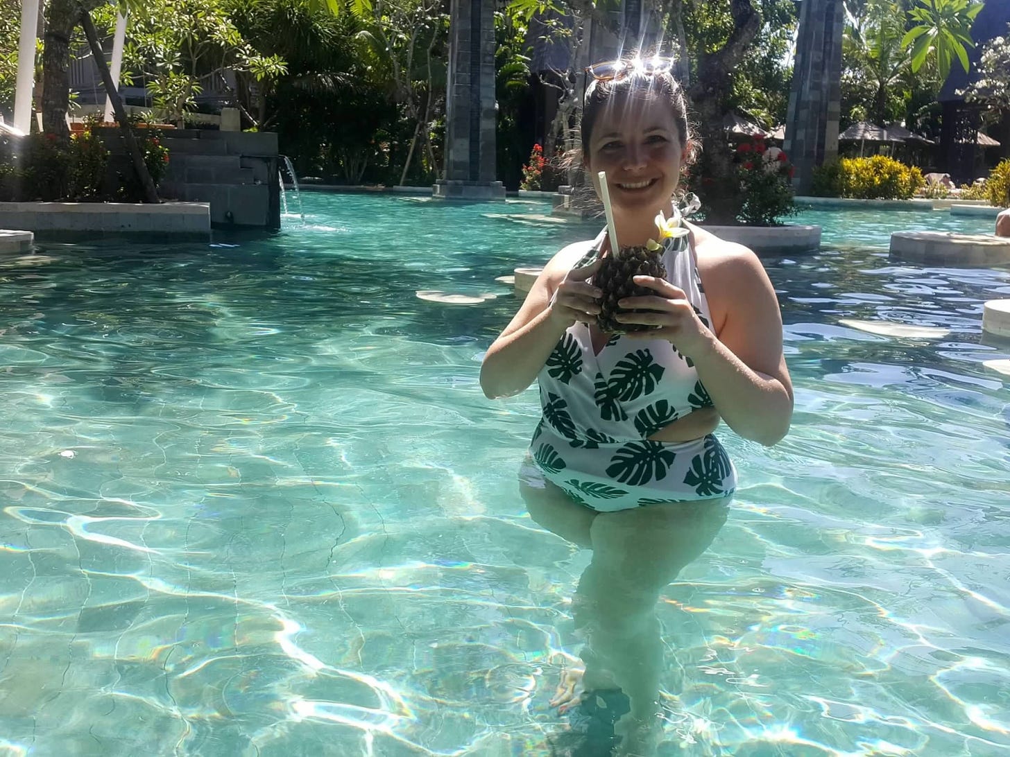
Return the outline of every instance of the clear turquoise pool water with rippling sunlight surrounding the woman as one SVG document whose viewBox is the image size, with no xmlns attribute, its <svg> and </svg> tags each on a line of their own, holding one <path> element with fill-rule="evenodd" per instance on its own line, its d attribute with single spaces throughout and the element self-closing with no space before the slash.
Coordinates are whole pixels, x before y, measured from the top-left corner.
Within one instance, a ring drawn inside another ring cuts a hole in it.
<svg viewBox="0 0 1010 757">
<path fill-rule="evenodd" d="M 304 203 L 270 238 L 0 258 L 5 757 L 542 755 L 562 728 L 588 555 L 517 497 L 535 393 L 477 375 L 496 278 L 589 229 Z M 822 250 L 767 260 L 793 430 L 723 435 L 741 489 L 660 607 L 661 754 L 1006 754 L 1010 379 L 983 361 L 1010 354 L 980 322 L 1010 273 L 887 256 L 985 219 L 798 220 Z"/>
</svg>

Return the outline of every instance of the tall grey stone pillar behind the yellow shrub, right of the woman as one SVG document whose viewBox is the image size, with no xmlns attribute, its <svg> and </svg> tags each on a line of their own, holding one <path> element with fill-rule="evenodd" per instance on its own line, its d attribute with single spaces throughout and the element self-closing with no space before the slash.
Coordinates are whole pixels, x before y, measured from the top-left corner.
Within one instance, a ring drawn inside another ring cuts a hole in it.
<svg viewBox="0 0 1010 757">
<path fill-rule="evenodd" d="M 796 167 L 793 187 L 800 195 L 810 192 L 813 170 L 838 156 L 842 20 L 842 0 L 800 3 L 784 144 Z"/>
</svg>

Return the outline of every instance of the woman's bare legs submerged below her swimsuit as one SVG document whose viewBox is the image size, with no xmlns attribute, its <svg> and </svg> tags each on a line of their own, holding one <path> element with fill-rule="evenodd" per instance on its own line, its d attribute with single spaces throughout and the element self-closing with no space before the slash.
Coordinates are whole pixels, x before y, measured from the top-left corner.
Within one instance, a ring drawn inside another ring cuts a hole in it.
<svg viewBox="0 0 1010 757">
<path fill-rule="evenodd" d="M 587 691 L 620 687 L 631 712 L 620 751 L 646 754 L 658 725 L 663 642 L 655 607 L 663 589 L 698 558 L 725 523 L 728 499 L 594 513 L 549 481 L 522 483 L 530 517 L 593 557 L 579 580 L 575 620 L 583 630 Z"/>
</svg>

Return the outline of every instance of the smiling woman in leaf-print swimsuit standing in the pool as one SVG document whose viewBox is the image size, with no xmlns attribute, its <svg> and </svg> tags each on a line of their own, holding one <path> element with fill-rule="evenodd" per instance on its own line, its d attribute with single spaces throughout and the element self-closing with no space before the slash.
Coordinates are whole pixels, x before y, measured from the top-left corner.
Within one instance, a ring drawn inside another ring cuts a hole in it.
<svg viewBox="0 0 1010 757">
<path fill-rule="evenodd" d="M 665 60 L 587 71 L 583 161 L 597 194 L 606 172 L 618 243 L 643 245 L 660 238 L 658 213 L 679 217 L 672 198 L 694 149 L 684 95 Z M 543 417 L 520 484 L 534 520 L 593 550 L 575 604 L 582 687 L 595 694 L 582 700 L 609 705 L 611 722 L 627 712 L 615 729 L 627 755 L 648 754 L 660 726 L 660 592 L 712 542 L 736 485 L 712 432 L 723 420 L 772 445 L 793 409 L 764 267 L 746 247 L 687 228 L 667 240 L 667 278 L 636 277 L 651 294 L 618 303 L 621 323 L 652 330 L 596 326 L 599 262 L 585 259 L 611 253 L 601 232 L 551 258 L 481 368 L 491 398 L 538 380 Z"/>
</svg>

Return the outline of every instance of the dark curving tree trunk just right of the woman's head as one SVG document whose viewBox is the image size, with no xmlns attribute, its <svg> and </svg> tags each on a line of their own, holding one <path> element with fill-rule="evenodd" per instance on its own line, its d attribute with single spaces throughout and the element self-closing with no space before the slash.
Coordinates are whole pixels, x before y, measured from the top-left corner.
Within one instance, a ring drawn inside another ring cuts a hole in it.
<svg viewBox="0 0 1010 757">
<path fill-rule="evenodd" d="M 715 52 L 702 56 L 698 77 L 688 91 L 698 118 L 698 132 L 704 149 L 695 191 L 702 201 L 705 220 L 733 223 L 743 204 L 733 153 L 722 127 L 726 103 L 732 88 L 733 70 L 742 62 L 747 47 L 761 29 L 761 14 L 750 0 L 731 0 L 733 30 L 726 43 Z"/>
</svg>

